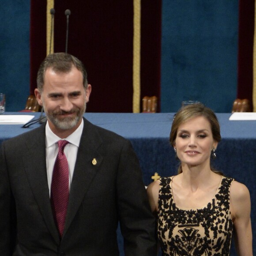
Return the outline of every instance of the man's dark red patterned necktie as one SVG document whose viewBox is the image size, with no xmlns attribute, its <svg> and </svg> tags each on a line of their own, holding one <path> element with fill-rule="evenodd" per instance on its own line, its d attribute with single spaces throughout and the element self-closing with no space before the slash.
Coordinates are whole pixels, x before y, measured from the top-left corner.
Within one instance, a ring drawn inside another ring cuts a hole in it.
<svg viewBox="0 0 256 256">
<path fill-rule="evenodd" d="M 51 184 L 51 204 L 53 216 L 58 227 L 60 237 L 64 230 L 65 218 L 68 208 L 69 184 L 68 184 L 68 160 L 64 154 L 66 140 L 59 140 L 59 151 L 53 167 Z"/>
</svg>

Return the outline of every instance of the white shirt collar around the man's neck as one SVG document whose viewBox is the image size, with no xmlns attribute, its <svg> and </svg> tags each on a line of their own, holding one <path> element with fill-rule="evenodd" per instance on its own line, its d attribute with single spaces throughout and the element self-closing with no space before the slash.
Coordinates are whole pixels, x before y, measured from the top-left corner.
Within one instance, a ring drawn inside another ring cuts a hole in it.
<svg viewBox="0 0 256 256">
<path fill-rule="evenodd" d="M 79 125 L 79 127 L 73 132 L 71 135 L 69 135 L 65 140 L 67 140 L 69 143 L 79 147 L 80 139 L 83 132 L 83 118 L 82 122 Z M 45 140 L 46 140 L 46 148 L 51 147 L 53 144 L 57 143 L 61 138 L 56 136 L 55 133 L 52 132 L 52 130 L 49 127 L 48 121 L 45 126 Z"/>
</svg>

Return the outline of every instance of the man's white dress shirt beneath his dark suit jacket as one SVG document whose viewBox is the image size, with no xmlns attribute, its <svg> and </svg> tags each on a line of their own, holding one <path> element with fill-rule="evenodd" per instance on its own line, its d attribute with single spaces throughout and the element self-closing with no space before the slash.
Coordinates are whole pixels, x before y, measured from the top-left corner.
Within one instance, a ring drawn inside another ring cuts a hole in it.
<svg viewBox="0 0 256 256">
<path fill-rule="evenodd" d="M 68 159 L 68 170 L 69 170 L 69 189 L 72 182 L 72 177 L 75 169 L 75 161 L 77 151 L 79 148 L 80 139 L 83 132 L 83 119 L 79 127 L 70 136 L 65 138 L 69 143 L 64 147 L 64 153 Z M 46 143 L 46 169 L 47 169 L 47 180 L 49 186 L 49 193 L 51 195 L 51 184 L 53 177 L 53 167 L 55 159 L 58 154 L 58 141 L 61 138 L 56 136 L 49 127 L 48 122 L 45 127 L 45 143 Z"/>
</svg>

